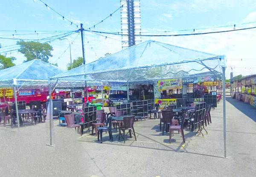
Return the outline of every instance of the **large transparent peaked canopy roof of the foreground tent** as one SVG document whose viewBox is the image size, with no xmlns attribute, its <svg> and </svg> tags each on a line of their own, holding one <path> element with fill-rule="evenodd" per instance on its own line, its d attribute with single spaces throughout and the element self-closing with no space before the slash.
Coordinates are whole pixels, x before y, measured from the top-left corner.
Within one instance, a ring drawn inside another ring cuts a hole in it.
<svg viewBox="0 0 256 177">
<path fill-rule="evenodd" d="M 105 85 L 150 84 L 201 72 L 221 73 L 224 55 L 145 41 L 51 77 L 58 81 L 102 81 Z M 209 74 L 208 74 L 209 75 Z"/>
</svg>

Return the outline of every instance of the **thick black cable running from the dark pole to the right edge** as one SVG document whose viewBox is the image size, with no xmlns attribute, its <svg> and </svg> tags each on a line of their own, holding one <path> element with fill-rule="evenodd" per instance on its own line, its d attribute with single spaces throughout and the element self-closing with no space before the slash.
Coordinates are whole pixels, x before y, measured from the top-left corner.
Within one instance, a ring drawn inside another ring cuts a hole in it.
<svg viewBox="0 0 256 177">
<path fill-rule="evenodd" d="M 242 28 L 242 29 L 232 29 L 232 30 L 226 30 L 226 31 L 216 31 L 216 32 L 201 32 L 201 33 L 189 33 L 189 34 L 176 34 L 176 35 L 135 35 L 135 36 L 147 36 L 147 37 L 161 37 L 161 36 L 189 36 L 189 35 L 206 35 L 206 34 L 213 34 L 213 33 L 222 33 L 222 32 L 233 32 L 233 31 L 241 31 L 241 30 L 246 30 L 246 29 L 255 29 L 256 26 L 250 27 L 250 28 Z M 84 31 L 89 31 L 84 29 Z M 111 33 L 111 32 L 100 32 L 100 31 L 91 31 L 91 32 L 96 32 L 96 33 L 103 33 L 103 34 L 110 34 L 110 35 L 123 35 L 123 36 L 128 36 L 124 34 L 117 34 L 117 33 Z"/>
</svg>

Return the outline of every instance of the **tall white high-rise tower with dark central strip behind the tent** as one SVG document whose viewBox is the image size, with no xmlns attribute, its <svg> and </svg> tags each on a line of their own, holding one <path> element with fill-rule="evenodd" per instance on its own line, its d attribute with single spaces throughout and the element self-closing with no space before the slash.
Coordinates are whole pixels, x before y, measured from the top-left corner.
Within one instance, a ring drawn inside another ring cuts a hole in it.
<svg viewBox="0 0 256 177">
<path fill-rule="evenodd" d="M 140 35 L 140 0 L 120 0 L 122 49 L 139 44 Z"/>
</svg>

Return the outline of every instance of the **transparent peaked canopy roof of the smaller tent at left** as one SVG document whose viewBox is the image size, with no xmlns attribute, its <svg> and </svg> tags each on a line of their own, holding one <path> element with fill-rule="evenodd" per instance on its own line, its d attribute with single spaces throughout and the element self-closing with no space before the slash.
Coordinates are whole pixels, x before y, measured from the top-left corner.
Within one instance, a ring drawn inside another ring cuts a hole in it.
<svg viewBox="0 0 256 177">
<path fill-rule="evenodd" d="M 48 77 L 63 73 L 52 64 L 34 59 L 13 67 L 0 70 L 0 87 L 17 86 L 48 87 Z"/>
</svg>

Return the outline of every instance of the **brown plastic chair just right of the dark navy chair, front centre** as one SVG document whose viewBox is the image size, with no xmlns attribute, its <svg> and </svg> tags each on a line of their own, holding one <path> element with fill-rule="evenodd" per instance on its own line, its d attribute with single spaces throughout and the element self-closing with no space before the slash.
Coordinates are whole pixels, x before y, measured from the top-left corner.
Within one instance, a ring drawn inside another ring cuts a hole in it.
<svg viewBox="0 0 256 177">
<path fill-rule="evenodd" d="M 123 132 L 123 135 L 124 135 L 124 142 L 125 142 L 125 130 L 129 131 L 128 133 L 130 134 L 130 138 L 132 133 L 134 135 L 135 141 L 137 141 L 135 131 L 134 131 L 134 121 L 135 121 L 135 116 L 124 117 L 124 121 L 123 121 L 124 125 L 120 128 L 120 130 Z M 119 139 L 121 136 L 121 131 L 119 132 Z"/>
</svg>

